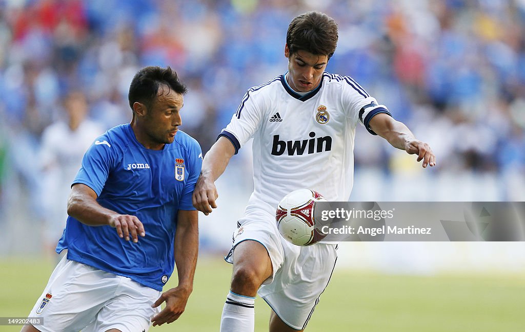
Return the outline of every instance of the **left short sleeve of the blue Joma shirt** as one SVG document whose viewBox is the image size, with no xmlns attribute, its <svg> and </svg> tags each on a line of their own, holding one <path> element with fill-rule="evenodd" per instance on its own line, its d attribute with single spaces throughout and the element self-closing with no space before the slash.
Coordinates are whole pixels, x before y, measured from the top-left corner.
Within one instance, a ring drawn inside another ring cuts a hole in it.
<svg viewBox="0 0 525 332">
<path fill-rule="evenodd" d="M 106 136 L 97 138 L 84 154 L 82 165 L 72 184 L 85 184 L 99 196 L 106 184 L 116 154 L 111 141 Z"/>
</svg>

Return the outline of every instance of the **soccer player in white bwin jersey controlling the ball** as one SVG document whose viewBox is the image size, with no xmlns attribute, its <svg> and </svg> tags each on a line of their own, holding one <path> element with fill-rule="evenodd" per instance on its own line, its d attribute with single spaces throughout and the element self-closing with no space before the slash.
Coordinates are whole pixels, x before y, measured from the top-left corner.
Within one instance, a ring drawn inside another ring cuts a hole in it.
<svg viewBox="0 0 525 332">
<path fill-rule="evenodd" d="M 217 207 L 215 180 L 238 149 L 254 139 L 255 189 L 225 258 L 233 263 L 233 276 L 222 332 L 254 330 L 257 293 L 272 308 L 270 332 L 306 328 L 330 280 L 336 245 L 290 244 L 278 233 L 275 210 L 283 196 L 302 187 L 329 201 L 348 200 L 358 123 L 392 146 L 417 154 L 423 167 L 436 163 L 430 147 L 358 83 L 324 71 L 337 40 L 337 24 L 327 15 L 295 17 L 286 36 L 288 72 L 248 90 L 204 158 L 193 204 L 209 214 Z"/>
</svg>

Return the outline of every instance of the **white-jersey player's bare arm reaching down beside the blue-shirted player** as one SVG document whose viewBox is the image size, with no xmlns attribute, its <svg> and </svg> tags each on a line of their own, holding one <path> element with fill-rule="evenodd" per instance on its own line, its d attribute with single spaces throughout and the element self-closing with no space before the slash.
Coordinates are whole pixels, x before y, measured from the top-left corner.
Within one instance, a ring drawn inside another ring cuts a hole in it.
<svg viewBox="0 0 525 332">
<path fill-rule="evenodd" d="M 201 176 L 199 176 L 193 192 L 193 206 L 198 211 L 208 215 L 212 208 L 216 208 L 215 200 L 219 196 L 215 187 L 215 180 L 224 173 L 229 160 L 235 154 L 232 142 L 224 136 L 219 137 L 209 149 L 202 162 Z"/>
</svg>

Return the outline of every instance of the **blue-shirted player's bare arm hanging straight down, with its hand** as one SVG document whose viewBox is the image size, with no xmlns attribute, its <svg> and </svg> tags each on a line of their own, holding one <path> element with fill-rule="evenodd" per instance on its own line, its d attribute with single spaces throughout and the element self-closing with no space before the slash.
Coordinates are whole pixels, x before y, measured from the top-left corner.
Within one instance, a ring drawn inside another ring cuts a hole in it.
<svg viewBox="0 0 525 332">
<path fill-rule="evenodd" d="M 184 312 L 193 291 L 193 276 L 198 253 L 198 212 L 179 210 L 174 242 L 178 286 L 162 293 L 152 307 L 166 302 L 166 307 L 151 319 L 153 326 L 170 324 Z"/>
</svg>

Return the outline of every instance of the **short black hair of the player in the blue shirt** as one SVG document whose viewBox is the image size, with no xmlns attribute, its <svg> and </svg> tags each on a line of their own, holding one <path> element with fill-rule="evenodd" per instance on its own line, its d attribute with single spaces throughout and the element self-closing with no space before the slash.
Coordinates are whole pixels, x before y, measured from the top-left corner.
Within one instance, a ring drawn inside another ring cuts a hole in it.
<svg viewBox="0 0 525 332">
<path fill-rule="evenodd" d="M 131 81 L 128 93 L 131 109 L 133 109 L 135 102 L 145 104 L 148 107 L 151 106 L 159 93 L 159 87 L 163 84 L 176 93 L 185 94 L 187 92 L 186 85 L 169 66 L 166 68 L 150 66 L 139 70 Z"/>
</svg>

